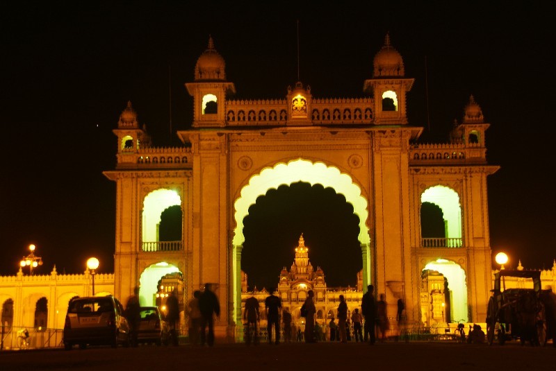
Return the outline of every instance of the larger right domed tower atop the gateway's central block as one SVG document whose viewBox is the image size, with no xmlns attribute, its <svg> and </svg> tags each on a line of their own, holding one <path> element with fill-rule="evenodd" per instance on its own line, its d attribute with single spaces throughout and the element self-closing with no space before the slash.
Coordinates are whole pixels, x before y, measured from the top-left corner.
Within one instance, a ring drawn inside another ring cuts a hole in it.
<svg viewBox="0 0 556 371">
<path fill-rule="evenodd" d="M 375 123 L 379 125 L 407 124 L 406 93 L 414 78 L 404 78 L 402 55 L 390 44 L 386 34 L 384 46 L 375 55 L 373 78 L 365 80 L 363 91 L 375 98 Z"/>
</svg>

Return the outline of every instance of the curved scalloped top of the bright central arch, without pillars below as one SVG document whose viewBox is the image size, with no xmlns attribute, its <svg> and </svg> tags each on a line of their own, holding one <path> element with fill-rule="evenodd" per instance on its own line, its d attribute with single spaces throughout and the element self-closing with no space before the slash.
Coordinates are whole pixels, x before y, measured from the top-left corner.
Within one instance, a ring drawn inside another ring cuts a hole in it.
<svg viewBox="0 0 556 371">
<path fill-rule="evenodd" d="M 249 214 L 249 207 L 254 205 L 259 196 L 264 196 L 269 189 L 277 189 L 281 185 L 294 182 L 307 182 L 311 186 L 322 184 L 331 187 L 337 193 L 343 194 L 345 200 L 353 206 L 353 212 L 359 216 L 359 242 L 370 243 L 366 220 L 368 217 L 367 200 L 361 196 L 361 188 L 354 184 L 350 175 L 341 173 L 334 166 L 327 166 L 322 162 L 311 162 L 306 159 L 295 159 L 287 164 L 280 162 L 272 168 L 266 168 L 254 175 L 249 184 L 241 189 L 240 197 L 234 203 L 236 229 L 234 230 L 234 245 L 243 245 L 243 219 Z"/>
</svg>

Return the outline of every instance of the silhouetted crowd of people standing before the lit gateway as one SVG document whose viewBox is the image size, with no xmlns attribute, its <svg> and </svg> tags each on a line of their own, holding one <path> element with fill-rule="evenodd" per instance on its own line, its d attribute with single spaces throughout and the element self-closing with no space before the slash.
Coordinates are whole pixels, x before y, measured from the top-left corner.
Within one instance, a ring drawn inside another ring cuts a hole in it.
<svg viewBox="0 0 556 371">
<path fill-rule="evenodd" d="M 130 326 L 130 343 L 137 346 L 137 328 L 139 321 L 139 289 L 136 287 L 133 295 L 129 297 L 126 304 L 126 317 Z M 314 293 L 312 290 L 307 292 L 306 300 L 301 309 L 301 316 L 304 329 L 297 327 L 292 321 L 292 315 L 288 308 L 282 308 L 281 299 L 274 295 L 273 290 L 264 301 L 264 313 L 267 319 L 265 340 L 269 344 L 278 345 L 284 343 L 305 342 L 317 343 L 318 341 L 338 341 L 347 343 L 354 340 L 359 343 L 370 345 L 384 342 L 389 331 L 389 319 L 386 311 L 387 305 L 385 295 L 381 293 L 379 300 L 375 299 L 374 286 L 368 285 L 367 292 L 361 299 L 361 313 L 359 308 L 351 312 L 348 316 L 347 303 L 345 297 L 339 295 L 339 304 L 336 309 L 336 318 L 330 317 L 327 324 L 320 325 L 315 320 L 316 306 Z M 179 304 L 177 293 L 172 292 L 166 301 L 167 312 L 165 320 L 170 326 L 170 339 L 173 345 L 178 345 L 179 328 Z M 401 320 L 404 303 L 398 300 L 397 320 Z M 212 284 L 205 284 L 204 291 L 194 291 L 193 297 L 189 300 L 185 308 L 188 318 L 189 343 L 191 345 L 214 345 L 214 319 L 220 317 L 220 304 L 218 297 L 214 293 Z M 244 340 L 247 345 L 259 344 L 261 329 L 261 303 L 256 297 L 252 296 L 245 300 L 243 311 Z M 282 330 L 282 331 L 281 331 Z M 484 332 L 481 327 L 475 325 L 468 334 L 468 343 L 484 343 Z"/>
</svg>

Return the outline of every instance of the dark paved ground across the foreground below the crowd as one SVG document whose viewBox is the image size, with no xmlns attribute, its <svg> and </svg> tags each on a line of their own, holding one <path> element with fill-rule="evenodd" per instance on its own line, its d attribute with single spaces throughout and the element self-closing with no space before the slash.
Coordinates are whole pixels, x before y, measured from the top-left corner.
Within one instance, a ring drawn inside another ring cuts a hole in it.
<svg viewBox="0 0 556 371">
<path fill-rule="evenodd" d="M 411 342 L 212 348 L 141 346 L 0 352 L 0 370 L 532 370 L 556 368 L 556 348 Z"/>
</svg>

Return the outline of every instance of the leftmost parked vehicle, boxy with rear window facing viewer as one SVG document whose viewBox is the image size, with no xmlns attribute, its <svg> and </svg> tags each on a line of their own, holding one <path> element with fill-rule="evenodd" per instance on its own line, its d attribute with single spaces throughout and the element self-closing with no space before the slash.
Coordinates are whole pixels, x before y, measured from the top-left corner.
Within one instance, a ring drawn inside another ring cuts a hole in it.
<svg viewBox="0 0 556 371">
<path fill-rule="evenodd" d="M 124 307 L 112 295 L 74 297 L 67 306 L 63 343 L 65 350 L 74 345 L 118 344 L 129 346 L 129 325 Z"/>
</svg>

